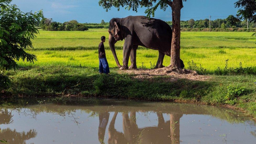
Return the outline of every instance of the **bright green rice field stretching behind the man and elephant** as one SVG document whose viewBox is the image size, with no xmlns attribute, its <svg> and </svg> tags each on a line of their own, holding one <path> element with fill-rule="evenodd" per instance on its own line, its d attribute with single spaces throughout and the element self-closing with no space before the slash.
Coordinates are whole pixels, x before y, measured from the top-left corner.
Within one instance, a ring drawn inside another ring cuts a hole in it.
<svg viewBox="0 0 256 144">
<path fill-rule="evenodd" d="M 217 67 L 223 68 L 229 59 L 230 67 L 256 66 L 256 37 L 253 32 L 182 32 L 181 59 L 185 63 L 193 60 L 208 71 Z M 42 31 L 33 40 L 34 49 L 26 51 L 35 54 L 38 61 L 34 64 L 19 61 L 21 66 L 86 66 L 98 67 L 98 44 L 101 36 L 106 36 L 106 56 L 110 67 L 116 67 L 114 57 L 108 45 L 107 29 L 90 29 L 89 31 Z M 116 43 L 116 52 L 122 63 L 122 45 Z M 137 66 L 142 62 L 149 68 L 150 62 L 156 63 L 158 51 L 139 47 L 137 50 Z M 165 56 L 163 65 L 170 64 L 170 57 Z"/>
</svg>

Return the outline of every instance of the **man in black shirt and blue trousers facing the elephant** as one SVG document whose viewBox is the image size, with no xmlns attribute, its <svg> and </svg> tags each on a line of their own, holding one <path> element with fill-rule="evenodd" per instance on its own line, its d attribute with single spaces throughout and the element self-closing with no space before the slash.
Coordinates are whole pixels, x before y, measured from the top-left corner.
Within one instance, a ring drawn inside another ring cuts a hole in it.
<svg viewBox="0 0 256 144">
<path fill-rule="evenodd" d="M 101 42 L 99 44 L 99 73 L 105 73 L 109 74 L 109 66 L 108 66 L 108 61 L 106 59 L 106 54 L 105 54 L 105 48 L 104 48 L 104 42 L 106 40 L 105 36 L 101 37 Z"/>
</svg>

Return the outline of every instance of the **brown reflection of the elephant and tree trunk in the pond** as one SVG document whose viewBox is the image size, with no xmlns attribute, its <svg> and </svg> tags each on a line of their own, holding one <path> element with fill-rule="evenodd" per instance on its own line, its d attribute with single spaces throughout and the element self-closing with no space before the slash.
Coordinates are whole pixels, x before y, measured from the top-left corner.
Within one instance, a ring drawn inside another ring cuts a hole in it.
<svg viewBox="0 0 256 144">
<path fill-rule="evenodd" d="M 136 124 L 136 111 L 122 114 L 123 131 L 118 132 L 115 129 L 115 112 L 109 124 L 108 143 L 179 143 L 179 120 L 182 114 L 170 114 L 170 121 L 165 122 L 162 113 L 157 113 L 158 126 L 138 129 Z"/>
</svg>

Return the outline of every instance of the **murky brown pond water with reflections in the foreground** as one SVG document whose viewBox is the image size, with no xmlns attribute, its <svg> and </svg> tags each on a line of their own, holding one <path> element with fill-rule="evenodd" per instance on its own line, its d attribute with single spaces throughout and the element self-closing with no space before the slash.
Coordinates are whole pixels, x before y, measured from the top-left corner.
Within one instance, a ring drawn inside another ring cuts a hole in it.
<svg viewBox="0 0 256 144">
<path fill-rule="evenodd" d="M 164 102 L 0 108 L 9 143 L 255 143 L 255 122 L 236 111 Z"/>
</svg>

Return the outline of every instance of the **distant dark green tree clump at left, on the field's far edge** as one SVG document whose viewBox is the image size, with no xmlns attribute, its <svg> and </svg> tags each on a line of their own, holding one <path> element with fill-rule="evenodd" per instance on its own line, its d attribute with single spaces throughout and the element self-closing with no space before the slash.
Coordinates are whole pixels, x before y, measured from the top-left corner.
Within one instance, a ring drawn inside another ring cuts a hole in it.
<svg viewBox="0 0 256 144">
<path fill-rule="evenodd" d="M 86 24 L 78 23 L 77 20 L 71 20 L 64 23 L 52 22 L 52 19 L 44 18 L 39 26 L 43 30 L 49 31 L 85 31 L 88 30 Z"/>
</svg>

